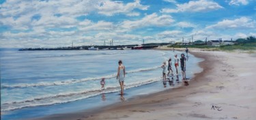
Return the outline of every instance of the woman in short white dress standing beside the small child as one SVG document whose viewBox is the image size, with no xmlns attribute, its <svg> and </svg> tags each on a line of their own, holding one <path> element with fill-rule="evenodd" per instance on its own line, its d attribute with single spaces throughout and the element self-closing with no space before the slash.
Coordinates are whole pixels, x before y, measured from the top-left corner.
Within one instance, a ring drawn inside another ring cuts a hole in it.
<svg viewBox="0 0 256 120">
<path fill-rule="evenodd" d="M 121 95 L 124 95 L 124 78 L 126 77 L 126 67 L 121 60 L 118 61 L 117 79 L 121 87 Z"/>
</svg>

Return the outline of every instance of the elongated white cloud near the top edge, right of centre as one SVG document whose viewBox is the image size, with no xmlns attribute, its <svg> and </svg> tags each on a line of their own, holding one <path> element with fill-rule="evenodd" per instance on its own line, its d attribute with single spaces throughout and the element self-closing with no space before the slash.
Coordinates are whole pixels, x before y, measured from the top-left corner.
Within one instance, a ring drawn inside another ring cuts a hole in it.
<svg viewBox="0 0 256 120">
<path fill-rule="evenodd" d="M 208 12 L 223 8 L 214 1 L 199 0 L 189 1 L 184 4 L 177 4 L 177 9 L 164 8 L 160 12 L 174 13 L 174 12 Z"/>
</svg>

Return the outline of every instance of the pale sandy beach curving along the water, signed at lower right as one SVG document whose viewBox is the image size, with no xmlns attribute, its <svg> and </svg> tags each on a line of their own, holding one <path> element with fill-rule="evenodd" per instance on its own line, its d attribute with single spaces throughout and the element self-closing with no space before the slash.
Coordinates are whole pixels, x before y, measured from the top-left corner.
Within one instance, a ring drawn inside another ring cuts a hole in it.
<svg viewBox="0 0 256 120">
<path fill-rule="evenodd" d="M 191 51 L 191 50 L 190 50 Z M 256 55 L 193 50 L 203 72 L 189 86 L 44 119 L 256 119 Z"/>
</svg>

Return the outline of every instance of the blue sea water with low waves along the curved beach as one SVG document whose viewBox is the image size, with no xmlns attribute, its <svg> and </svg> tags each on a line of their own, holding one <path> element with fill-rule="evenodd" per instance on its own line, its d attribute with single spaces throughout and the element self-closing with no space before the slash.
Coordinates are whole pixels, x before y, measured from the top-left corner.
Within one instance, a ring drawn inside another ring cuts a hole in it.
<svg viewBox="0 0 256 120">
<path fill-rule="evenodd" d="M 116 79 L 119 59 L 126 66 L 125 93 L 131 91 L 129 97 L 162 91 L 160 87 L 155 87 L 162 80 L 160 65 L 169 57 L 173 58 L 175 54 L 180 56 L 181 53 L 169 50 L 1 49 L 1 119 L 26 119 L 61 113 L 53 110 L 57 108 L 64 108 L 61 110 L 65 112 L 83 110 L 86 107 L 79 107 L 79 102 L 89 104 L 90 100 L 98 100 L 100 104 L 102 93 L 107 95 L 120 91 Z M 201 72 L 199 61 L 202 59 L 188 55 L 187 78 Z M 101 78 L 105 78 L 106 82 L 104 91 L 100 86 Z M 108 99 L 109 104 L 118 101 L 111 100 L 110 96 Z M 87 108 L 94 107 L 87 105 Z M 42 113 L 42 110 L 47 112 Z"/>
</svg>

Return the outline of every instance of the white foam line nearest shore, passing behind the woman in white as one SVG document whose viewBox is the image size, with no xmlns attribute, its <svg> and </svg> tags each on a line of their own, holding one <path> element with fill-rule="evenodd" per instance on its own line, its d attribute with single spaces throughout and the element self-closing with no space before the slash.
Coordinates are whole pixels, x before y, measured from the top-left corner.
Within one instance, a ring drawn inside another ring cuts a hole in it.
<svg viewBox="0 0 256 120">
<path fill-rule="evenodd" d="M 152 82 L 156 82 L 160 80 L 160 78 L 151 78 L 147 79 L 143 82 L 134 82 L 132 84 L 127 84 L 125 86 L 125 89 L 130 89 L 132 87 L 139 87 L 141 85 L 147 85 Z M 52 104 L 63 104 L 67 102 L 74 102 L 77 100 L 82 100 L 87 97 L 93 97 L 96 95 L 100 95 L 101 93 L 113 93 L 119 91 L 119 86 L 111 86 L 106 87 L 104 91 L 102 91 L 100 88 L 98 89 L 92 89 L 88 91 L 77 91 L 77 92 L 68 92 L 68 93 L 58 93 L 55 95 L 45 95 L 42 97 L 34 97 L 27 100 L 22 101 L 14 101 L 14 102 L 5 102 L 1 104 L 1 110 L 2 111 L 8 111 L 8 110 L 16 110 L 20 108 L 27 108 L 27 107 L 33 107 L 33 106 L 46 106 L 46 105 L 52 105 Z"/>
</svg>

